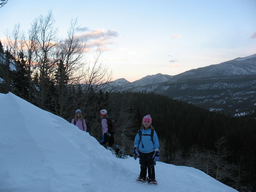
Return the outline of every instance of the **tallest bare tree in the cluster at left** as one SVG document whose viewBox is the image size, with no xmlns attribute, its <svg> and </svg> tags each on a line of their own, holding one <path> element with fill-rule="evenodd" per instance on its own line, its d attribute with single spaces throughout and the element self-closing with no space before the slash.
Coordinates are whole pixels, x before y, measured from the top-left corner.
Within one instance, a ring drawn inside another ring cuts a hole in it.
<svg viewBox="0 0 256 192">
<path fill-rule="evenodd" d="M 46 16 L 38 18 L 38 33 L 36 33 L 36 41 L 38 49 L 36 49 L 36 76 L 38 76 L 39 97 L 38 104 L 40 108 L 45 108 L 45 95 L 47 92 L 47 84 L 53 78 L 53 70 L 55 62 L 53 60 L 54 48 L 58 45 L 57 32 L 54 28 L 54 19 L 52 11 Z"/>
</svg>

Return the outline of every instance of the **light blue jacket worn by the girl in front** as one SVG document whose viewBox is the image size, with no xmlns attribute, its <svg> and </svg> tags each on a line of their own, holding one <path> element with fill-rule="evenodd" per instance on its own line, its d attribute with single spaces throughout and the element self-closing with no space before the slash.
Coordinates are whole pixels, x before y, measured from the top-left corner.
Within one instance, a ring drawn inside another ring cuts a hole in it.
<svg viewBox="0 0 256 192">
<path fill-rule="evenodd" d="M 141 132 L 142 132 L 142 134 L 150 135 L 151 129 L 144 130 L 144 128 L 143 128 L 141 130 Z M 141 141 L 140 141 L 139 131 L 138 131 L 137 135 L 135 136 L 134 147 L 136 147 L 136 148 L 139 147 L 139 151 L 142 153 L 150 153 L 152 151 L 159 150 L 158 149 L 159 148 L 159 140 L 158 140 L 155 130 L 154 130 L 154 135 L 153 135 L 154 143 L 151 140 L 151 136 L 148 136 L 148 135 L 141 135 Z M 139 141 L 140 141 L 140 144 L 139 144 Z M 142 143 L 144 145 L 144 148 L 142 148 Z"/>
</svg>

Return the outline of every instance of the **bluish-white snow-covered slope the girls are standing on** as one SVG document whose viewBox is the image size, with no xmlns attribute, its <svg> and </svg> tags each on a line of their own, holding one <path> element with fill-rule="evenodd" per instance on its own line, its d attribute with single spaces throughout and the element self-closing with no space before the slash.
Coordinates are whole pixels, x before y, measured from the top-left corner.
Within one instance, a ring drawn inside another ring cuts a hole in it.
<svg viewBox="0 0 256 192">
<path fill-rule="evenodd" d="M 89 133 L 12 93 L 0 94 L 1 192 L 234 192 L 192 167 L 157 162 L 158 185 L 136 182 L 138 159 L 119 159 Z"/>
</svg>

